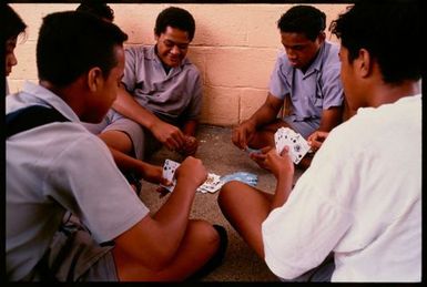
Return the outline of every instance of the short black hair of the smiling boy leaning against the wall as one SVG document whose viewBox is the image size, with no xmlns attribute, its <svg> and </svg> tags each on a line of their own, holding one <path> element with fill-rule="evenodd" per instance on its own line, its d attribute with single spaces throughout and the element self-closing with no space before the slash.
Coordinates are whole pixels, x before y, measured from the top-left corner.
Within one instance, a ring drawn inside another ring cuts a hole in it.
<svg viewBox="0 0 427 287">
<path fill-rule="evenodd" d="M 154 33 L 160 35 L 166 31 L 166 27 L 177 28 L 189 33 L 190 41 L 194 38 L 195 21 L 193 16 L 179 7 L 169 7 L 157 16 Z"/>
</svg>

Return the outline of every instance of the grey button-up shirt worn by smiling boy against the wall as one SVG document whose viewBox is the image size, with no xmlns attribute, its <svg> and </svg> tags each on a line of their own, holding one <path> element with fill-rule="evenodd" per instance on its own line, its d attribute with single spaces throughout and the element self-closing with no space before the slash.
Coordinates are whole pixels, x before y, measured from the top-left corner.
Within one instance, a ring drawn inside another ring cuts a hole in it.
<svg viewBox="0 0 427 287">
<path fill-rule="evenodd" d="M 202 107 L 202 80 L 189 59 L 166 74 L 155 45 L 125 50 L 122 82 L 145 109 L 170 122 L 197 120 Z"/>
</svg>

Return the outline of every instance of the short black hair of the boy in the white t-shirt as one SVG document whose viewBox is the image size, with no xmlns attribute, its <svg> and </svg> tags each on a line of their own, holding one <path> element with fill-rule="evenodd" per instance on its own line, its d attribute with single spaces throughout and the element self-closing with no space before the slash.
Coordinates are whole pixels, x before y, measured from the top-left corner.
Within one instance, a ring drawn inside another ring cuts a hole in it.
<svg viewBox="0 0 427 287">
<path fill-rule="evenodd" d="M 348 50 L 348 61 L 366 49 L 386 83 L 421 76 L 421 7 L 416 1 L 357 1 L 334 20 L 329 30 Z"/>
</svg>

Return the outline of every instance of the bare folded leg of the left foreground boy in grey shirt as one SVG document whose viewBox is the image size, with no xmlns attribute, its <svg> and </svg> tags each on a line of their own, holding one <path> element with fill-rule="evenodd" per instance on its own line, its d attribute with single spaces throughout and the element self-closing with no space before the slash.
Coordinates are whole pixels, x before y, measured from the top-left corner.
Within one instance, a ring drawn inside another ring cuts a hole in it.
<svg viewBox="0 0 427 287">
<path fill-rule="evenodd" d="M 184 280 L 199 270 L 216 253 L 220 236 L 211 224 L 190 221 L 181 247 L 174 259 L 162 270 L 152 270 L 113 249 L 114 262 L 121 281 L 175 281 Z"/>
</svg>

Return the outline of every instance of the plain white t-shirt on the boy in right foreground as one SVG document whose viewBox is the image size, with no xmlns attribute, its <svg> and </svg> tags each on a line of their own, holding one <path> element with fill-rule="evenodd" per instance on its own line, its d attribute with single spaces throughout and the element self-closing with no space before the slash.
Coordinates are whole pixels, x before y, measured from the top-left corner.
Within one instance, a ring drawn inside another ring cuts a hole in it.
<svg viewBox="0 0 427 287">
<path fill-rule="evenodd" d="M 421 95 L 359 109 L 334 129 L 262 233 L 285 279 L 334 252 L 332 281 L 419 281 Z"/>
</svg>

